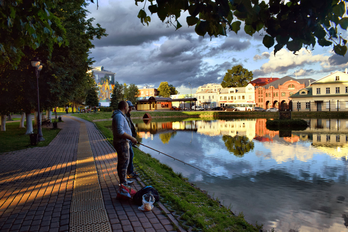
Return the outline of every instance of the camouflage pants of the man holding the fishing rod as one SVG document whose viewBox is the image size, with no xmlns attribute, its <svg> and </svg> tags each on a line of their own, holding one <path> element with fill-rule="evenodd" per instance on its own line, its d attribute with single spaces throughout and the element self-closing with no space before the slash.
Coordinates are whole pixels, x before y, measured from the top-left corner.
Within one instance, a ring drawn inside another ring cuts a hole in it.
<svg viewBox="0 0 348 232">
<path fill-rule="evenodd" d="M 120 179 L 120 184 L 123 184 L 126 182 L 129 164 L 129 142 L 114 142 L 113 147 L 117 152 L 117 175 Z"/>
</svg>

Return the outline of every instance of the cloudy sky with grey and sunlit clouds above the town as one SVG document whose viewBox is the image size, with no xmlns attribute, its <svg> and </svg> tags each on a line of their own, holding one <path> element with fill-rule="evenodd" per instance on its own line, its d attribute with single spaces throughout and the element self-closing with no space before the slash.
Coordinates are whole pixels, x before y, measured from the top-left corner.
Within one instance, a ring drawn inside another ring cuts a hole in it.
<svg viewBox="0 0 348 232">
<path fill-rule="evenodd" d="M 254 79 L 295 77 L 297 73 L 297 78 L 318 80 L 348 68 L 348 56 L 334 54 L 332 47 L 317 45 L 313 51 L 302 48 L 299 55 L 283 48 L 274 56 L 273 48 L 263 46 L 261 31 L 251 37 L 244 32 L 243 24 L 238 34 L 228 32 L 227 37 L 203 38 L 194 27 L 187 26 L 187 13 L 181 14 L 179 22 L 183 26 L 175 31 L 173 26 L 162 23 L 157 14 L 151 16 L 149 26 L 142 25 L 137 14 L 143 6 L 136 6 L 134 1 L 99 0 L 98 5 L 98 9 L 96 3 L 87 7 L 89 17 L 106 28 L 109 36 L 93 40 L 95 48 L 90 57 L 94 57 L 95 66 L 103 65 L 116 72 L 119 83 L 157 88 L 160 82 L 167 81 L 180 94 L 189 94 L 189 82 L 192 92 L 207 83 L 220 84 L 227 69 L 237 64 L 252 70 Z"/>
</svg>

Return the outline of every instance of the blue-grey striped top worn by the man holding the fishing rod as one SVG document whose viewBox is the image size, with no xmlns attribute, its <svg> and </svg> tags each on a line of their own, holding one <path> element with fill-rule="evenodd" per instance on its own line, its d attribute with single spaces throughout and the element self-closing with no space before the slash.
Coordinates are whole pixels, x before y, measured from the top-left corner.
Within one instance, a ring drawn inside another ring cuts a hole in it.
<svg viewBox="0 0 348 232">
<path fill-rule="evenodd" d="M 121 135 L 127 133 L 132 135 L 132 131 L 129 128 L 126 116 L 121 110 L 115 110 L 112 115 L 112 134 L 114 142 L 129 142 L 130 140 L 121 138 Z"/>
</svg>

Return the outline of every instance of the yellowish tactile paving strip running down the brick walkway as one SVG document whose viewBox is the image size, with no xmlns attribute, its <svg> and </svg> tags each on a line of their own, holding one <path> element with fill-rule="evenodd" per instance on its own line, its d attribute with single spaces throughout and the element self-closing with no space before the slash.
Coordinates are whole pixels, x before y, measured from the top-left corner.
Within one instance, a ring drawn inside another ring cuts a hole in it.
<svg viewBox="0 0 348 232">
<path fill-rule="evenodd" d="M 69 228 L 70 232 L 112 231 L 104 206 L 86 124 L 82 122 L 80 122 Z"/>
</svg>

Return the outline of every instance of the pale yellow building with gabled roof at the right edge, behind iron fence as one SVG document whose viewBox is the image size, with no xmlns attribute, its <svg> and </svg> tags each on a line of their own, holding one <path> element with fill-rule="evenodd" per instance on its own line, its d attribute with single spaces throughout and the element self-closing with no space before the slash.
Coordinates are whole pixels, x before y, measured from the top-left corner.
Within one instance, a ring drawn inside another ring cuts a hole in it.
<svg viewBox="0 0 348 232">
<path fill-rule="evenodd" d="M 290 96 L 293 110 L 348 110 L 348 72 L 335 71 Z"/>
</svg>

